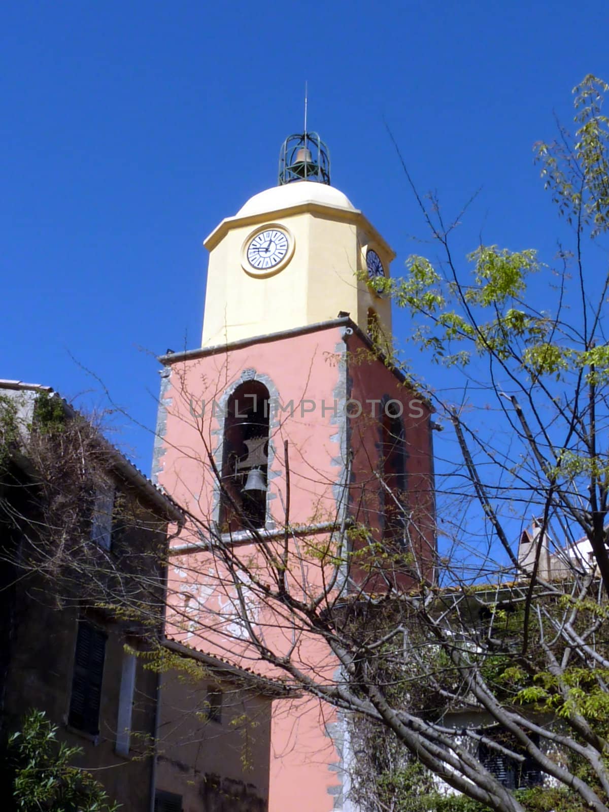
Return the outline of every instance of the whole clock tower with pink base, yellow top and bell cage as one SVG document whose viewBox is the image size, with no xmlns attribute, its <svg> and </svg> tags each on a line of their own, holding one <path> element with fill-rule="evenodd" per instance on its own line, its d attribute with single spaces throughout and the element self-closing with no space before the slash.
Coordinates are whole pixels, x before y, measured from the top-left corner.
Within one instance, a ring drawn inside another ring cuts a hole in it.
<svg viewBox="0 0 609 812">
<path fill-rule="evenodd" d="M 171 548 L 169 577 L 176 617 L 199 615 L 195 623 L 175 620 L 173 636 L 263 670 L 253 625 L 248 630 L 236 608 L 247 601 L 230 588 L 220 594 L 209 547 L 268 560 L 278 539 L 302 551 L 360 525 L 410 564 L 374 573 L 346 565 L 343 594 L 432 581 L 430 407 L 383 352 L 391 302 L 379 279 L 389 278 L 395 254 L 330 186 L 316 133 L 284 142 L 279 184 L 222 219 L 205 248 L 201 347 L 160 359 L 154 475 L 197 517 L 197 532 Z M 262 550 L 261 533 L 269 544 Z M 306 599 L 322 589 L 318 570 L 311 559 L 293 573 Z M 250 608 L 266 646 L 331 679 L 336 664 L 319 641 L 287 634 L 264 602 Z M 337 711 L 306 693 L 278 699 L 271 741 L 270 812 L 352 810 L 348 728 Z"/>
</svg>

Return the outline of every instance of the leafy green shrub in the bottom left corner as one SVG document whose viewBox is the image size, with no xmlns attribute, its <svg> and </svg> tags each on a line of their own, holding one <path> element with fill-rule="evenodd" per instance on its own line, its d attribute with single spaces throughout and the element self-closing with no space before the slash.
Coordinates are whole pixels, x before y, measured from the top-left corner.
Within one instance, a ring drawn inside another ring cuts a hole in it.
<svg viewBox="0 0 609 812">
<path fill-rule="evenodd" d="M 57 741 L 57 728 L 42 711 L 30 711 L 10 747 L 15 761 L 14 797 L 23 812 L 117 812 L 89 772 L 71 766 L 82 750 Z"/>
</svg>

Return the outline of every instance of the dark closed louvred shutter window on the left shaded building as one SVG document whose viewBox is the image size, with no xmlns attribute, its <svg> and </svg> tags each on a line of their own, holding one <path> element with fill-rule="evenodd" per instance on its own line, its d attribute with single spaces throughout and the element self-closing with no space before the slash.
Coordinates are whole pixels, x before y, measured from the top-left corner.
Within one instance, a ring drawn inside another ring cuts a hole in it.
<svg viewBox="0 0 609 812">
<path fill-rule="evenodd" d="M 101 629 L 80 620 L 76 635 L 74 674 L 68 724 L 91 733 L 99 732 L 99 706 L 102 698 L 102 677 L 106 657 L 106 634 Z"/>
</svg>

